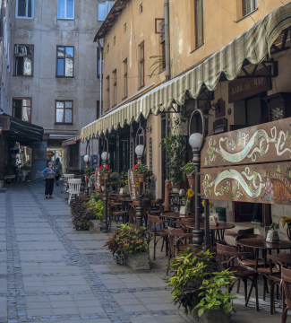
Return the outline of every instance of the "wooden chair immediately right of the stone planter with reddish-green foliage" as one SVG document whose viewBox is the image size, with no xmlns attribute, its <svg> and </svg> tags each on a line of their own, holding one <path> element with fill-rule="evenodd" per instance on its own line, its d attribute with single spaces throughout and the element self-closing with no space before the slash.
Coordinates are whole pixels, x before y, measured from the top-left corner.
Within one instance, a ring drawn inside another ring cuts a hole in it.
<svg viewBox="0 0 291 323">
<path fill-rule="evenodd" d="M 156 260 L 156 248 L 158 244 L 158 240 L 162 239 L 162 248 L 161 251 L 163 251 L 164 243 L 166 243 L 166 255 L 168 252 L 168 231 L 165 228 L 165 224 L 169 223 L 166 220 L 161 220 L 158 216 L 150 215 L 148 216 L 148 229 L 150 236 L 153 238 L 154 242 L 154 260 Z M 158 238 L 158 239 L 157 239 Z"/>
</svg>

